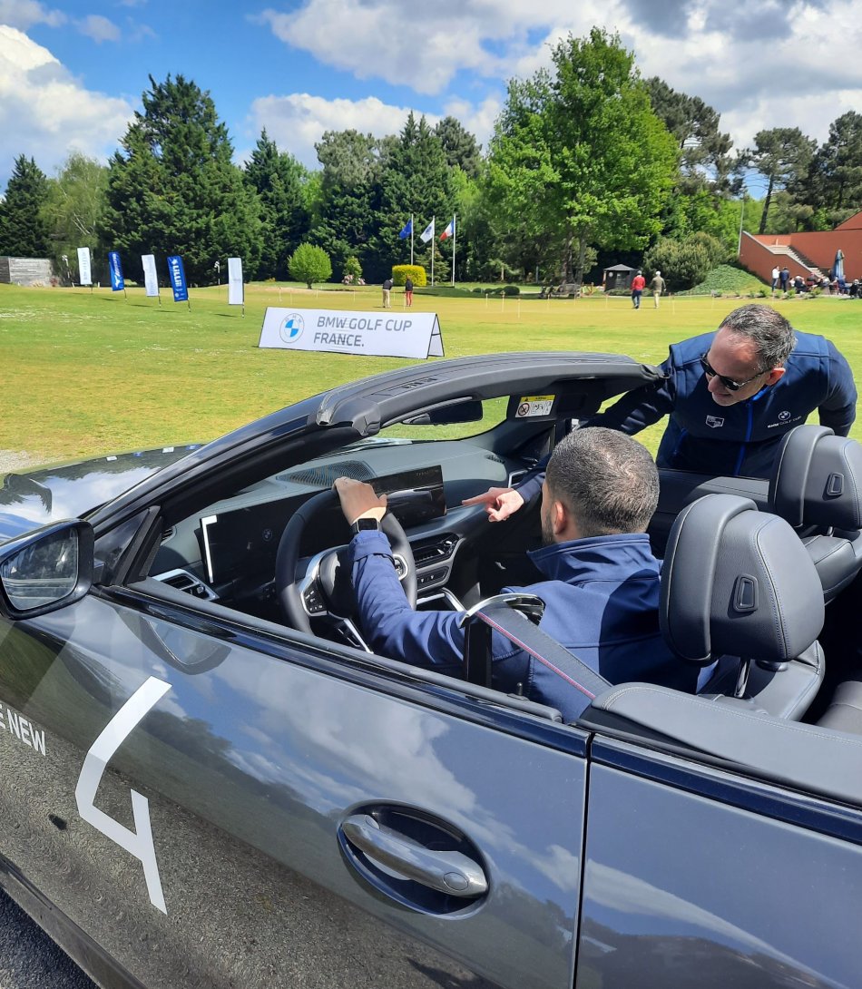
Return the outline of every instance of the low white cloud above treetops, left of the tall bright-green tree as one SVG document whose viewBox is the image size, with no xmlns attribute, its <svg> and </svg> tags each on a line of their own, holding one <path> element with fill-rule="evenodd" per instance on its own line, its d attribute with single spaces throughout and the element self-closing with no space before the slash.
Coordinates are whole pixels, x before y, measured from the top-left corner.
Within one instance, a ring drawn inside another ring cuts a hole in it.
<svg viewBox="0 0 862 989">
<path fill-rule="evenodd" d="M 259 135 L 266 128 L 282 150 L 290 151 L 308 168 L 319 168 L 314 143 L 324 131 L 352 129 L 376 137 L 397 134 L 409 112 L 409 107 L 393 107 L 374 96 L 364 100 L 325 100 L 308 93 L 262 96 L 251 106 L 249 130 Z M 432 125 L 438 120 L 427 119 Z"/>
</svg>

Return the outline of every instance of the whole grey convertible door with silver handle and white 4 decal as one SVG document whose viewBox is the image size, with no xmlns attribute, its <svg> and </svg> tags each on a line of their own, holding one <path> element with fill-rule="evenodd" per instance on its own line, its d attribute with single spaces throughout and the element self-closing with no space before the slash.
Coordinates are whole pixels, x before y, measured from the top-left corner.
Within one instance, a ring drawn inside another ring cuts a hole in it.
<svg viewBox="0 0 862 989">
<path fill-rule="evenodd" d="M 0 625 L 2 881 L 91 972 L 571 986 L 583 733 L 155 583 Z"/>
</svg>

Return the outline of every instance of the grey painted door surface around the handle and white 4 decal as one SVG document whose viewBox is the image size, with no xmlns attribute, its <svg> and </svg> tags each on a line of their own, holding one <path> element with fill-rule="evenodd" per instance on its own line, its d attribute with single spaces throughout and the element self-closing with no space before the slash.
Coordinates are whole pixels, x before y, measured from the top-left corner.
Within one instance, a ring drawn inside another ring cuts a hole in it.
<svg viewBox="0 0 862 989">
<path fill-rule="evenodd" d="M 293 971 L 331 986 L 361 968 L 431 986 L 441 971 L 467 977 L 465 964 L 478 985 L 570 984 L 582 758 L 435 711 L 433 698 L 297 666 L 290 646 L 262 656 L 96 597 L 29 624 L 6 626 L 0 690 L 44 733 L 45 753 L 0 734 L 4 764 L 20 767 L 4 854 L 145 985 L 264 985 L 276 973 L 290 984 Z M 96 804 L 133 828 L 129 790 L 148 799 L 166 914 L 140 861 L 75 804 L 88 749 L 151 676 L 170 690 L 129 734 Z M 357 807 L 390 803 L 472 836 L 488 896 L 434 916 L 364 882 L 338 852 L 338 828 Z"/>
</svg>

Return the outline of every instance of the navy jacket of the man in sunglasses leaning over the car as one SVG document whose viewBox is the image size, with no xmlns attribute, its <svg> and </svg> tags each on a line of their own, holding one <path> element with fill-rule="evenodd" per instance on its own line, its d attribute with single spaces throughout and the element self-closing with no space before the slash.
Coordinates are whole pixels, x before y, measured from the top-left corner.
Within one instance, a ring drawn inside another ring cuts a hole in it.
<svg viewBox="0 0 862 989">
<path fill-rule="evenodd" d="M 664 380 L 628 392 L 610 408 L 581 423 L 640 432 L 662 416 L 669 419 L 655 463 L 713 477 L 768 478 L 784 436 L 815 410 L 820 424 L 846 436 L 856 418 L 856 386 L 846 359 L 823 336 L 796 331 L 796 346 L 775 385 L 735 405 L 718 405 L 708 391 L 700 357 L 715 333 L 670 345 L 661 365 Z M 547 459 L 540 465 L 544 468 Z M 518 486 L 529 500 L 544 474 Z"/>
</svg>

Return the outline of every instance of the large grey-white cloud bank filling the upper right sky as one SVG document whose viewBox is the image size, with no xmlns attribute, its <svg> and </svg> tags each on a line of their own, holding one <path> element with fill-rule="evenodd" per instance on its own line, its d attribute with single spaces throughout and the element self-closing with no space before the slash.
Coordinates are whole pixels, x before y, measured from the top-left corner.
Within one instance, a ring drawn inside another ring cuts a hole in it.
<svg viewBox="0 0 862 989">
<path fill-rule="evenodd" d="M 823 140 L 832 120 L 862 103 L 862 21 L 845 0 L 686 0 L 671 8 L 661 0 L 547 0 L 539 10 L 511 0 L 441 0 L 411 9 L 408 24 L 397 0 L 304 0 L 291 13 L 268 9 L 255 20 L 359 79 L 444 94 L 446 112 L 483 144 L 504 81 L 549 65 L 552 45 L 593 25 L 619 33 L 645 77 L 658 75 L 718 110 L 739 147 L 771 127 Z"/>
</svg>

